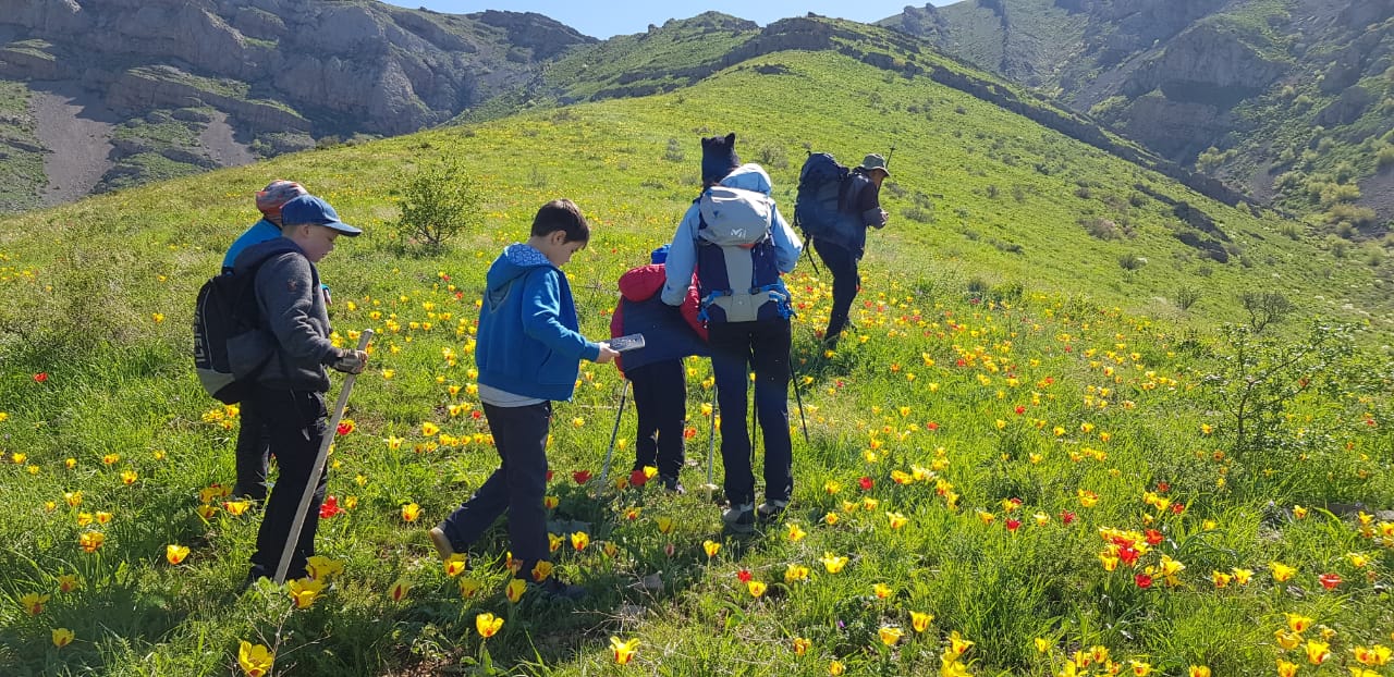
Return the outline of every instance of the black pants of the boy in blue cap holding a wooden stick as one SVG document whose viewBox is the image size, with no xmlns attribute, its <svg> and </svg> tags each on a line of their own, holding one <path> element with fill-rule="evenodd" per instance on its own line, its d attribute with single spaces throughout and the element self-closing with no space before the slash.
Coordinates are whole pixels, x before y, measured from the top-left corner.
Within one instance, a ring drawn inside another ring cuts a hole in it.
<svg viewBox="0 0 1394 677">
<path fill-rule="evenodd" d="M 290 538 L 290 527 L 296 520 L 300 499 L 315 472 L 315 457 L 319 444 L 328 433 L 328 411 L 325 396 L 311 390 L 268 390 L 256 389 L 243 403 L 254 418 L 265 422 L 270 433 L 270 456 L 276 458 L 280 476 L 266 500 L 266 513 L 256 531 L 256 553 L 252 554 L 252 574 L 272 577 L 280 563 L 280 554 Z M 315 529 L 319 527 L 319 504 L 325 500 L 325 472 L 318 472 L 309 510 L 304 527 L 296 540 L 286 578 L 305 575 L 305 560 L 315 554 Z"/>
</svg>

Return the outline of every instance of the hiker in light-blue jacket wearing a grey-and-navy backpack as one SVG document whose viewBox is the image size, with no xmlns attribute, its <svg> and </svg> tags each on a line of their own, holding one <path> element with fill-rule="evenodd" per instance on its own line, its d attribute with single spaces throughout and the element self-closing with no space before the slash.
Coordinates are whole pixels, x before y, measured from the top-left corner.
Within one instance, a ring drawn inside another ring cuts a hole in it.
<svg viewBox="0 0 1394 677">
<path fill-rule="evenodd" d="M 680 305 L 697 273 L 707 320 L 721 418 L 721 460 L 733 532 L 783 514 L 793 493 L 789 436 L 789 347 L 793 308 L 781 276 L 799 262 L 803 242 L 779 215 L 769 174 L 740 164 L 736 135 L 701 139 L 703 192 L 673 234 L 662 299 Z M 753 449 L 746 435 L 749 373 L 754 371 L 756 421 L 764 433 L 765 500 L 756 507 Z"/>
</svg>

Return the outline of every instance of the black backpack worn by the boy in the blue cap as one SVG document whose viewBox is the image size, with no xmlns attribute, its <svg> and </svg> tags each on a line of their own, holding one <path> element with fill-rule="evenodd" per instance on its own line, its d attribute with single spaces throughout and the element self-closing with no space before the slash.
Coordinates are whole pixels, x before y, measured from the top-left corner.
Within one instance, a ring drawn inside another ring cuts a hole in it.
<svg viewBox="0 0 1394 677">
<path fill-rule="evenodd" d="M 255 288 L 259 267 L 212 277 L 194 304 L 194 371 L 204 390 L 223 404 L 243 401 L 270 358 L 269 350 L 259 350 L 265 354 L 258 361 L 238 365 L 241 373 L 234 373 L 229 357 L 229 344 L 250 344 L 262 334 Z"/>
</svg>

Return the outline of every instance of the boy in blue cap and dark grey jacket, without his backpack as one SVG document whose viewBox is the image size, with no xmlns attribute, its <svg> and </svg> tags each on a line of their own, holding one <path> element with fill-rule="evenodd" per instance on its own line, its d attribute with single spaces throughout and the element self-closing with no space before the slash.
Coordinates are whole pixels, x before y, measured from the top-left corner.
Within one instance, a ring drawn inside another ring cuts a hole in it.
<svg viewBox="0 0 1394 677">
<path fill-rule="evenodd" d="M 354 237 L 362 231 L 340 221 L 329 203 L 312 195 L 286 202 L 280 215 L 280 237 L 248 247 L 233 263 L 234 274 L 255 269 L 256 305 L 270 352 L 243 407 L 269 429 L 270 456 L 280 472 L 256 531 L 248 582 L 275 575 L 290 539 L 296 540 L 296 547 L 287 579 L 305 575 L 305 560 L 315 554 L 319 504 L 325 497 L 325 474 L 315 472 L 314 467 L 329 425 L 325 410 L 329 373 L 325 368 L 360 373 L 368 364 L 367 352 L 337 348 L 329 340 L 329 311 L 315 267 L 333 251 L 339 235 Z M 311 475 L 318 475 L 319 483 L 304 527 L 291 535 L 296 510 Z"/>
</svg>

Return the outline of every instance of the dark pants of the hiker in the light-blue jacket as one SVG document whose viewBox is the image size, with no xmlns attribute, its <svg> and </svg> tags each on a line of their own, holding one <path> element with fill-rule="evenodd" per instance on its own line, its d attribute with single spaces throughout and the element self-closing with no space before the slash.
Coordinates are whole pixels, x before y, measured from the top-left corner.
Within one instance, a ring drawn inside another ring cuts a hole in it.
<svg viewBox="0 0 1394 677">
<path fill-rule="evenodd" d="M 765 500 L 793 493 L 789 442 L 789 320 L 715 322 L 707 327 L 721 405 L 721 462 L 726 500 L 754 503 L 753 454 L 746 433 L 746 384 L 756 372 L 756 417 L 765 442 Z"/>
</svg>

